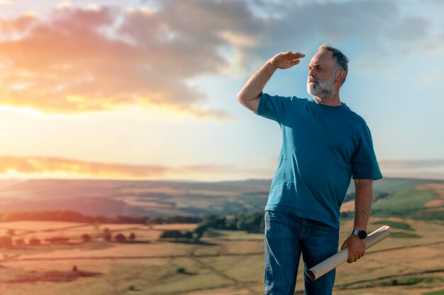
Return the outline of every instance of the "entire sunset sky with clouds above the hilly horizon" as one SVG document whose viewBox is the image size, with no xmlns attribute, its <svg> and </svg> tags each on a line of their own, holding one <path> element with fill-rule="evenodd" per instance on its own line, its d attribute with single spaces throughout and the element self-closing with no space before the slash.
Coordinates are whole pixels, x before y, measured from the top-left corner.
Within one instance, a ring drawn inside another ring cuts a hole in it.
<svg viewBox="0 0 444 295">
<path fill-rule="evenodd" d="M 272 178 L 276 122 L 235 98 L 310 98 L 323 42 L 350 59 L 340 99 L 386 177 L 444 179 L 444 1 L 0 0 L 0 179 Z"/>
</svg>

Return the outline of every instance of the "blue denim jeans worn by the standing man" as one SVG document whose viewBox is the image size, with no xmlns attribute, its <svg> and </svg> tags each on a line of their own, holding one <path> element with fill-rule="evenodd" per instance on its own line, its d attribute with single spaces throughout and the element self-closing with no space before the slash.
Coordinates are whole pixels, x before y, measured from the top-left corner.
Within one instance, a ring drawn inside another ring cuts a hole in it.
<svg viewBox="0 0 444 295">
<path fill-rule="evenodd" d="M 304 260 L 304 294 L 332 294 L 335 270 L 315 281 L 306 272 L 338 253 L 338 241 L 338 229 L 319 221 L 265 211 L 265 295 L 294 294 L 301 253 Z"/>
</svg>

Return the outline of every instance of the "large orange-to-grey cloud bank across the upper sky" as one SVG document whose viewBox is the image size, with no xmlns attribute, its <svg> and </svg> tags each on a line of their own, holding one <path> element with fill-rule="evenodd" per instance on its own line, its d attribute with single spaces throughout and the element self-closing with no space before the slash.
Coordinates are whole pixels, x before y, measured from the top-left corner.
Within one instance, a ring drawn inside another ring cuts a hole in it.
<svg viewBox="0 0 444 295">
<path fill-rule="evenodd" d="M 359 59 L 379 69 L 378 62 L 396 64 L 387 52 L 427 40 L 430 22 L 382 0 L 150 3 L 155 8 L 66 2 L 48 19 L 0 21 L 9 36 L 0 38 L 0 103 L 47 113 L 141 106 L 227 119 L 187 81 L 250 73 L 279 51 L 323 41 L 359 44 Z"/>
</svg>

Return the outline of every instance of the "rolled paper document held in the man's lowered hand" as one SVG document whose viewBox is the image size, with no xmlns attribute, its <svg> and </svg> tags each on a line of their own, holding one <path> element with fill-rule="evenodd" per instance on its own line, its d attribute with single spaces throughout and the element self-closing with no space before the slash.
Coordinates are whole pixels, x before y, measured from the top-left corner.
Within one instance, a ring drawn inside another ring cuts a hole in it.
<svg viewBox="0 0 444 295">
<path fill-rule="evenodd" d="M 372 247 L 372 245 L 384 240 L 384 238 L 387 238 L 390 234 L 389 228 L 390 226 L 381 226 L 376 231 L 370 233 L 370 235 L 368 235 L 367 238 L 364 239 L 365 249 L 368 249 Z M 333 270 L 335 267 L 338 267 L 338 265 L 343 264 L 347 260 L 348 260 L 348 249 L 345 248 L 341 250 L 339 253 L 336 253 L 335 255 L 331 256 L 331 258 L 327 258 L 318 265 L 311 267 L 311 269 L 309 269 L 308 271 L 309 277 L 311 279 L 318 279 L 327 272 Z"/>
</svg>

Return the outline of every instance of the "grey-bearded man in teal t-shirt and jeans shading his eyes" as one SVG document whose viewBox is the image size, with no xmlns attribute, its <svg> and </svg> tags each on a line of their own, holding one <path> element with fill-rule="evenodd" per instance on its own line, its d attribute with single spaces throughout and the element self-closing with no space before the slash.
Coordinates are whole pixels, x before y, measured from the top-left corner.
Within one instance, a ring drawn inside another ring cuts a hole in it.
<svg viewBox="0 0 444 295">
<path fill-rule="evenodd" d="M 348 248 L 349 263 L 364 255 L 372 180 L 382 178 L 365 120 L 340 102 L 339 90 L 348 74 L 342 52 L 323 44 L 311 59 L 307 91 L 313 100 L 262 93 L 274 71 L 289 69 L 304 56 L 276 54 L 237 96 L 246 108 L 282 129 L 279 163 L 265 207 L 265 294 L 294 293 L 301 254 L 305 294 L 332 294 L 335 270 L 316 281 L 306 271 L 338 252 L 340 205 L 352 177 L 355 224 L 341 248 Z"/>
</svg>

